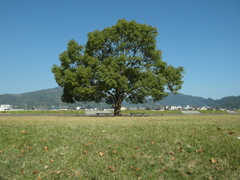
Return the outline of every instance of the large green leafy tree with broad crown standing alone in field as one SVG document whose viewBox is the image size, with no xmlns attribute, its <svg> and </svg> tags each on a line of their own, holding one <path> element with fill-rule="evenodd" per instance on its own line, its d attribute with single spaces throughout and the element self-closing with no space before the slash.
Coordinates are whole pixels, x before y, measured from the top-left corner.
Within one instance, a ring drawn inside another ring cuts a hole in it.
<svg viewBox="0 0 240 180">
<path fill-rule="evenodd" d="M 183 67 L 162 61 L 156 48 L 157 29 L 135 21 L 88 34 L 86 45 L 68 42 L 60 54 L 61 65 L 53 65 L 56 82 L 63 87 L 62 101 L 105 101 L 121 112 L 123 100 L 144 103 L 177 93 L 183 83 Z"/>
</svg>

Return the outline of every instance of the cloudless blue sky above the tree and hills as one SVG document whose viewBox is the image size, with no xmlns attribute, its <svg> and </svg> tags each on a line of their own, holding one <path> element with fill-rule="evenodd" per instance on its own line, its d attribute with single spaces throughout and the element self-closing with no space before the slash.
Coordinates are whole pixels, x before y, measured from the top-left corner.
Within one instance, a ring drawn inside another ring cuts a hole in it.
<svg viewBox="0 0 240 180">
<path fill-rule="evenodd" d="M 0 94 L 57 87 L 67 42 L 118 19 L 158 29 L 163 60 L 185 68 L 180 93 L 240 95 L 239 0 L 0 0 Z"/>
</svg>

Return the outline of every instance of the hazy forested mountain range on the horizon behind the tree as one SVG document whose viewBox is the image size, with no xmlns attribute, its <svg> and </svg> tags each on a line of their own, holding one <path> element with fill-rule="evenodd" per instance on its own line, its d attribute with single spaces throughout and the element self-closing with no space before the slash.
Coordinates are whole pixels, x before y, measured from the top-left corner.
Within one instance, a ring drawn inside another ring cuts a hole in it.
<svg viewBox="0 0 240 180">
<path fill-rule="evenodd" d="M 69 108 L 81 107 L 96 107 L 109 108 L 110 105 L 105 103 L 95 102 L 77 102 L 74 104 L 67 104 L 61 101 L 63 89 L 61 87 L 44 89 L 39 91 L 27 92 L 22 94 L 3 94 L 0 95 L 0 104 L 10 104 L 15 109 L 30 109 L 32 107 L 38 109 L 47 109 L 52 106 L 68 106 Z M 130 104 L 123 102 L 123 106 L 126 107 L 147 107 L 147 108 L 159 108 L 160 106 L 192 106 L 202 107 L 209 106 L 214 108 L 225 108 L 225 109 L 240 109 L 240 96 L 228 96 L 219 100 L 211 98 L 205 99 L 202 97 L 195 97 L 184 94 L 170 94 L 161 101 L 154 102 L 149 99 L 145 104 Z"/>
</svg>

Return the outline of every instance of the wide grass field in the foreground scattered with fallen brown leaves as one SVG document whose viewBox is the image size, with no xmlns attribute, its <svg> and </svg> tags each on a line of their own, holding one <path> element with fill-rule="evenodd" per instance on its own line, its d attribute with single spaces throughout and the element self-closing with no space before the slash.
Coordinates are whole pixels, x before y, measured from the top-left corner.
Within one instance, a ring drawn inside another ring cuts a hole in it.
<svg viewBox="0 0 240 180">
<path fill-rule="evenodd" d="M 0 117 L 0 179 L 238 179 L 240 115 Z"/>
</svg>

